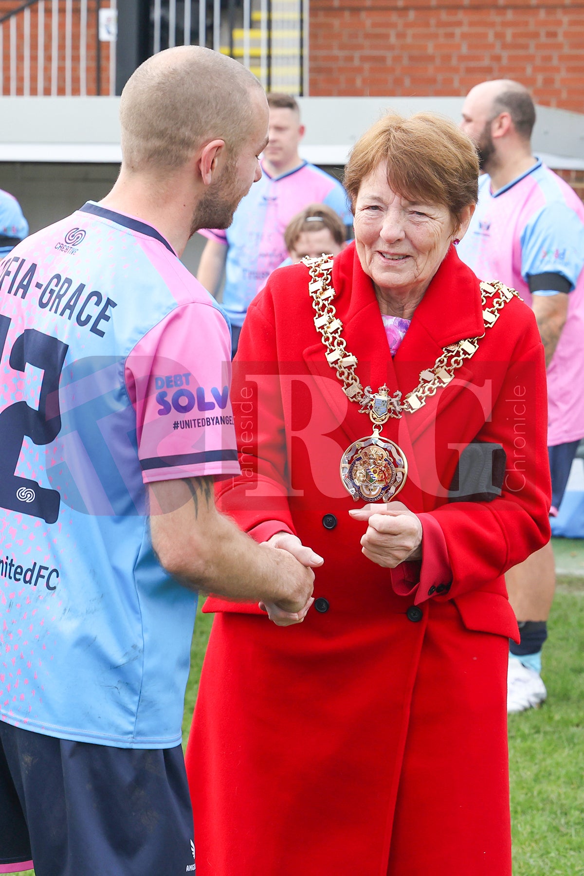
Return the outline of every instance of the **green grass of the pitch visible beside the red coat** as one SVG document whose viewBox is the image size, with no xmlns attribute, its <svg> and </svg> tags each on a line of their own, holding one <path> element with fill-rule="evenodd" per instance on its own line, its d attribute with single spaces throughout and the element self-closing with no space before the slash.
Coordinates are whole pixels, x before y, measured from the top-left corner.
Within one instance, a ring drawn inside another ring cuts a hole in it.
<svg viewBox="0 0 584 876">
<path fill-rule="evenodd" d="M 558 585 L 544 649 L 547 703 L 510 716 L 514 876 L 584 876 L 584 578 Z M 183 742 L 211 619 L 197 616 Z"/>
</svg>

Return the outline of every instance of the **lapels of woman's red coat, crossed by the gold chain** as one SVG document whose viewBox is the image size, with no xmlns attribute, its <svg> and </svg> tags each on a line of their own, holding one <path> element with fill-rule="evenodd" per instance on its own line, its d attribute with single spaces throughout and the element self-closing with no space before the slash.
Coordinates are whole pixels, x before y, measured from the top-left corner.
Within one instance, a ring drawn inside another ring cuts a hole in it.
<svg viewBox="0 0 584 876">
<path fill-rule="evenodd" d="M 353 253 L 352 262 L 348 258 Z M 374 392 L 387 384 L 390 393 L 402 392 L 402 398 L 419 385 L 419 372 L 433 368 L 443 348 L 462 338 L 481 336 L 484 331 L 479 281 L 463 265 L 451 247 L 416 308 L 412 324 L 392 360 L 383 327 L 381 312 L 371 279 L 362 271 L 355 247 L 334 260 L 334 306 L 343 324 L 342 337 L 346 350 L 357 358 L 356 374 L 362 386 L 370 385 Z M 307 294 L 307 292 L 306 292 Z M 359 405 L 348 402 L 337 378 L 325 358 L 325 347 L 314 329 L 315 343 L 304 350 L 308 370 L 320 378 L 318 388 L 324 401 L 341 422 L 348 444 L 371 434 L 372 424 Z M 383 435 L 403 449 L 412 478 L 405 486 L 404 501 L 413 483 L 419 484 L 413 445 L 431 426 L 440 410 L 451 404 L 472 378 L 472 372 L 462 366 L 447 389 L 439 389 L 415 413 L 406 413 L 399 420 L 390 419 Z M 401 497 L 400 497 L 401 498 Z"/>
</svg>

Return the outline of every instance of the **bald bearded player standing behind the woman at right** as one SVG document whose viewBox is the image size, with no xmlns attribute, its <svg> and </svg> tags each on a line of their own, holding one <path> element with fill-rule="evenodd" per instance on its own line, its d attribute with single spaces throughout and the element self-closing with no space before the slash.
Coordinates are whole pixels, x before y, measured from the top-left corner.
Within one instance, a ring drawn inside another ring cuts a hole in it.
<svg viewBox="0 0 584 876">
<path fill-rule="evenodd" d="M 484 174 L 458 254 L 482 279 L 517 289 L 538 321 L 547 366 L 553 516 L 584 437 L 584 205 L 532 154 L 534 123 L 531 95 L 519 82 L 482 82 L 468 93 L 461 129 L 475 141 Z M 507 460 L 507 477 L 519 484 L 519 394 L 517 401 L 517 457 Z M 546 461 L 541 464 L 543 469 Z M 510 569 L 506 581 L 521 632 L 521 643 L 510 643 L 507 707 L 518 712 L 546 697 L 540 672 L 555 586 L 551 543 Z"/>
</svg>

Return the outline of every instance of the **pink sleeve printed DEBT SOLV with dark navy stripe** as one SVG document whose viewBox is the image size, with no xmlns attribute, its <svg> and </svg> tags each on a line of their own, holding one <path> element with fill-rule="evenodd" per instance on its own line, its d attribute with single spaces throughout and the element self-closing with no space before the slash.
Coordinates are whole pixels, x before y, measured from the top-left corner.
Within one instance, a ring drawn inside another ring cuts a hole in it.
<svg viewBox="0 0 584 876">
<path fill-rule="evenodd" d="M 145 484 L 239 474 L 229 328 L 216 307 L 175 307 L 131 351 L 125 381 Z"/>
</svg>

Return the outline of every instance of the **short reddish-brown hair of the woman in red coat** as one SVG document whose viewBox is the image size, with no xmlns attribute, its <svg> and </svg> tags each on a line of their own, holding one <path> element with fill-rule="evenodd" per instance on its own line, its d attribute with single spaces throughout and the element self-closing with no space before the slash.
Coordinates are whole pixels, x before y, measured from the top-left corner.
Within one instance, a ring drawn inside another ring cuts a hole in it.
<svg viewBox="0 0 584 876">
<path fill-rule="evenodd" d="M 362 181 L 387 163 L 387 181 L 410 201 L 447 207 L 454 228 L 463 208 L 478 197 L 475 145 L 450 119 L 435 113 L 410 118 L 390 113 L 369 128 L 353 147 L 344 184 L 355 213 Z"/>
</svg>

